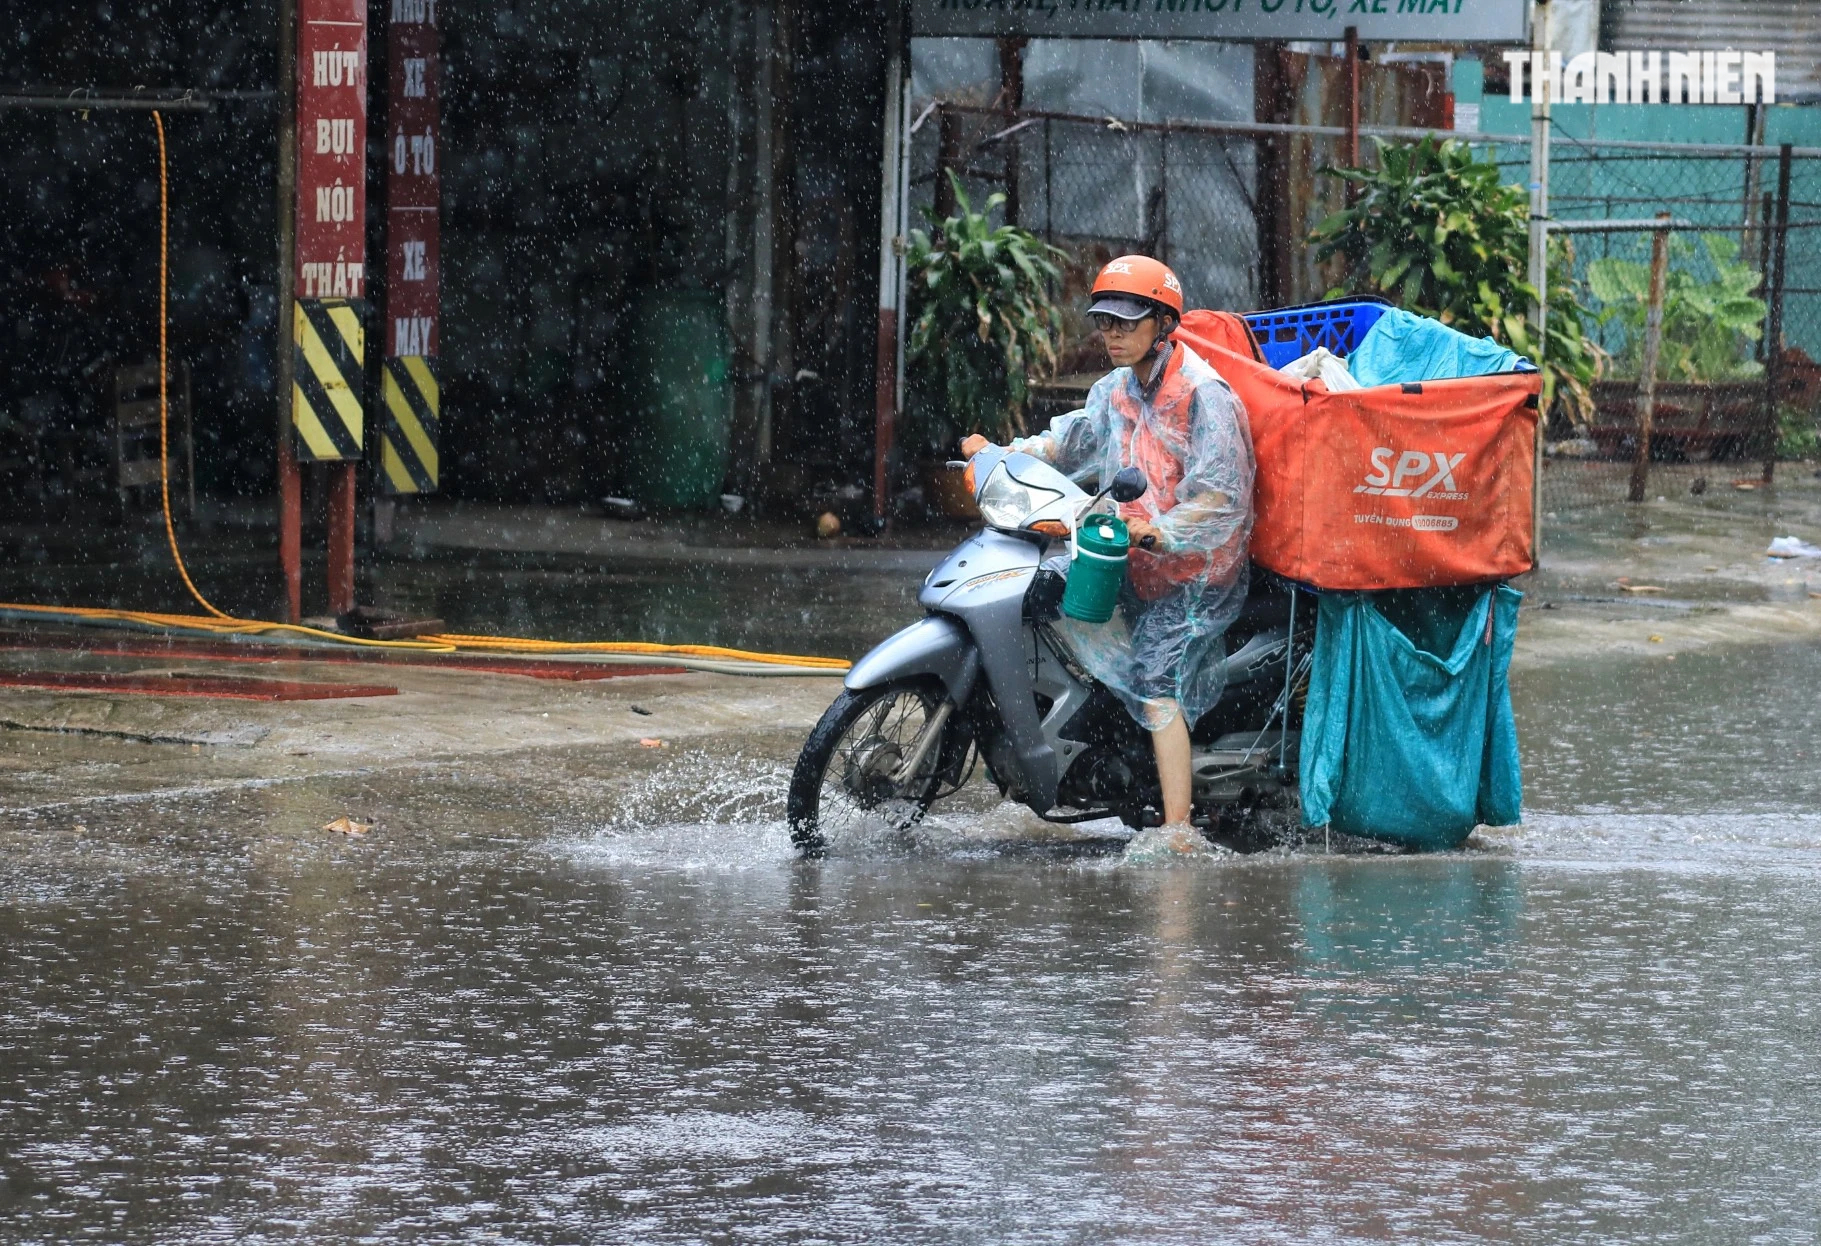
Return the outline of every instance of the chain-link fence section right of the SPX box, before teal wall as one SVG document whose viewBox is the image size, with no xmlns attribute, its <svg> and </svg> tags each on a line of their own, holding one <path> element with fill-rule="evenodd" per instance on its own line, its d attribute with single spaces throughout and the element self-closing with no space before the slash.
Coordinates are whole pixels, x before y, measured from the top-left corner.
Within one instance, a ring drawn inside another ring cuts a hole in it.
<svg viewBox="0 0 1821 1246">
<path fill-rule="evenodd" d="M 1530 144 L 1497 144 L 1528 180 Z M 1724 497 L 1817 452 L 1821 158 L 1765 146 L 1553 137 L 1550 313 L 1599 346 L 1584 393 L 1561 393 L 1544 441 L 1544 512 L 1599 523 L 1628 497 Z M 1643 368 L 1652 253 L 1663 302 L 1648 434 Z M 1635 479 L 1635 483 L 1633 483 Z"/>
</svg>

